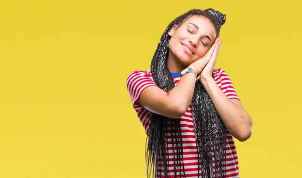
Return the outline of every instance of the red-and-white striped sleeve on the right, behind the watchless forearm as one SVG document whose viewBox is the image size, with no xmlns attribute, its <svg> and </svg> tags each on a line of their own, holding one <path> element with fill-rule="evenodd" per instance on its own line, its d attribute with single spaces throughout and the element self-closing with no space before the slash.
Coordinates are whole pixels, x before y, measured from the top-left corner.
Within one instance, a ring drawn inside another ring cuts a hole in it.
<svg viewBox="0 0 302 178">
<path fill-rule="evenodd" d="M 233 83 L 228 74 L 222 69 L 219 71 L 219 78 L 221 81 L 221 90 L 229 99 L 237 99 L 240 100 L 237 96 Z"/>
</svg>

